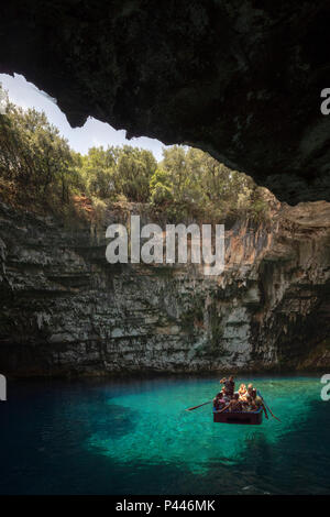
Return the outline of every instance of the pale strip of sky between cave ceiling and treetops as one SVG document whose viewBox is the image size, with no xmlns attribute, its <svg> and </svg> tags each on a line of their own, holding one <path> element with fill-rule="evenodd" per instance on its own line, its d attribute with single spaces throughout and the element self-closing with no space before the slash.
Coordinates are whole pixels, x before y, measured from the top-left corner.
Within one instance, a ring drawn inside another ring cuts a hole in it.
<svg viewBox="0 0 330 517">
<path fill-rule="evenodd" d="M 70 147 L 75 151 L 86 154 L 89 147 L 103 145 L 133 145 L 152 151 L 157 161 L 162 160 L 162 148 L 165 145 L 158 140 L 141 136 L 139 139 L 125 139 L 125 131 L 116 131 L 111 125 L 100 122 L 94 118 L 87 119 L 82 128 L 73 129 L 65 114 L 47 94 L 40 90 L 32 82 L 28 82 L 21 75 L 14 74 L 14 77 L 0 74 L 0 82 L 8 91 L 9 99 L 14 105 L 23 109 L 35 108 L 37 111 L 44 111 L 50 122 L 58 128 L 61 134 L 68 140 Z"/>
</svg>

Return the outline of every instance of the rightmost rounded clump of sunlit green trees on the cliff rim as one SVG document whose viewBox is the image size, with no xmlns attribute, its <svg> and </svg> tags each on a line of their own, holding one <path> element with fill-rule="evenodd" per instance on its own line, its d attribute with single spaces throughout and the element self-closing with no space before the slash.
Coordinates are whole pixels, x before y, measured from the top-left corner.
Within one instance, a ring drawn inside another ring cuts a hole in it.
<svg viewBox="0 0 330 517">
<path fill-rule="evenodd" d="M 264 189 L 208 153 L 175 145 L 151 179 L 151 201 L 175 217 L 218 219 L 228 213 L 264 217 Z"/>
</svg>

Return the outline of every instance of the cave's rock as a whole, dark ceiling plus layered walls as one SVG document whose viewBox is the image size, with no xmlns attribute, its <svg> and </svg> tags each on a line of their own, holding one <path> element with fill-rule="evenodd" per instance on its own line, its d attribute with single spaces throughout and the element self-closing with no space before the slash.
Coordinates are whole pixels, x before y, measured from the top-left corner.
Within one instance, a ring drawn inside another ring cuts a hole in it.
<svg viewBox="0 0 330 517">
<path fill-rule="evenodd" d="M 107 265 L 112 216 L 100 238 L 1 205 L 4 371 L 328 364 L 330 3 L 13 1 L 0 23 L 0 73 L 23 74 L 72 127 L 94 117 L 195 146 L 272 193 L 272 221 L 227 219 L 227 271 L 199 287 L 193 271 Z"/>
</svg>

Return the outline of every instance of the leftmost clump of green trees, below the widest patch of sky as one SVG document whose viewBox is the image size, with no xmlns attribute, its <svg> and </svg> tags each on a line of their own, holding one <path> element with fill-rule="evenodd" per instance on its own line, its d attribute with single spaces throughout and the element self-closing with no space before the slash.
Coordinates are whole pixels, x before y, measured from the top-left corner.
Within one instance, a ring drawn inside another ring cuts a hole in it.
<svg viewBox="0 0 330 517">
<path fill-rule="evenodd" d="M 0 117 L 0 175 L 37 196 L 67 201 L 79 184 L 78 161 L 44 113 L 7 102 Z"/>
</svg>

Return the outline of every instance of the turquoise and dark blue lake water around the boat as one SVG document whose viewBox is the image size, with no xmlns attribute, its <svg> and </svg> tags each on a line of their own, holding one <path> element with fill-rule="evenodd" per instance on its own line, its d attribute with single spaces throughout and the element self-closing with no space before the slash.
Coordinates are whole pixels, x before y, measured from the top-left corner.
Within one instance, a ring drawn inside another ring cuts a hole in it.
<svg viewBox="0 0 330 517">
<path fill-rule="evenodd" d="M 249 382 L 249 377 L 239 382 Z M 9 383 L 1 494 L 329 494 L 319 376 L 260 376 L 282 422 L 213 424 L 218 378 Z"/>
</svg>

